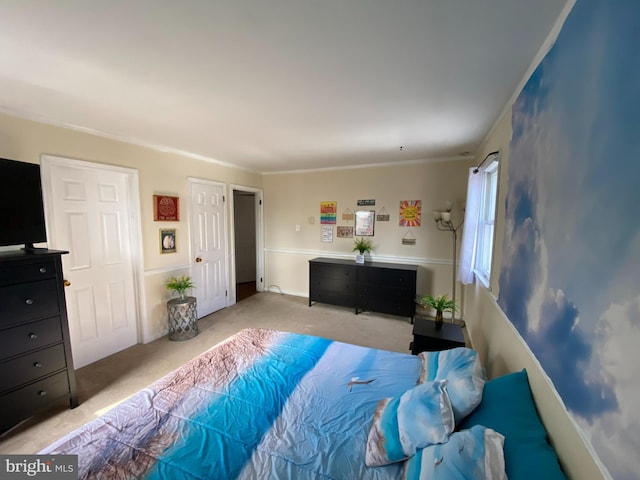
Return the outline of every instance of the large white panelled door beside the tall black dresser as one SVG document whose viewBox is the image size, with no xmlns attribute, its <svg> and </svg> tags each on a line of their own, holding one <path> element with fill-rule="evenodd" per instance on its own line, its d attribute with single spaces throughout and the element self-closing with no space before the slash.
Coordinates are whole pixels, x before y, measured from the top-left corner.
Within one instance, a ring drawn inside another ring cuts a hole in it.
<svg viewBox="0 0 640 480">
<path fill-rule="evenodd" d="M 49 244 L 62 256 L 76 368 L 138 341 L 128 174 L 108 166 L 46 161 Z"/>
</svg>

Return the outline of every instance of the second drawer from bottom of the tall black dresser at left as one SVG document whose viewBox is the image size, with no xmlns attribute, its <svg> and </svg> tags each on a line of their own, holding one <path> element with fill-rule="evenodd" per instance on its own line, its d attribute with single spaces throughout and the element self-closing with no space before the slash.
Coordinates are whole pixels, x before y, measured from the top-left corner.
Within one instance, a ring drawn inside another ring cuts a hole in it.
<svg viewBox="0 0 640 480">
<path fill-rule="evenodd" d="M 0 390 L 10 390 L 66 366 L 62 344 L 8 360 L 0 364 L 0 369 L 3 372 Z"/>
</svg>

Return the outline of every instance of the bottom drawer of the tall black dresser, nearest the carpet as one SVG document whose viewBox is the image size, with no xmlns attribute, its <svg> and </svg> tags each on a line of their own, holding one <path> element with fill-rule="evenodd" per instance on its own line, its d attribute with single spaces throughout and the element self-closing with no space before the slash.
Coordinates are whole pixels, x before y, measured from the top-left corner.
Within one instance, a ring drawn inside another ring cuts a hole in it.
<svg viewBox="0 0 640 480">
<path fill-rule="evenodd" d="M 0 396 L 0 431 L 15 425 L 53 401 L 69 395 L 67 372 L 27 385 Z"/>
</svg>

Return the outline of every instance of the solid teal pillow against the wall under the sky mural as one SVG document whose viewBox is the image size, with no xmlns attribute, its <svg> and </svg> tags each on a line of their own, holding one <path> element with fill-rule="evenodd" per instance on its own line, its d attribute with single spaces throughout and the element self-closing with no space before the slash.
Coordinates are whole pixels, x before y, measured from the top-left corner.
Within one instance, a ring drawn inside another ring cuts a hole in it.
<svg viewBox="0 0 640 480">
<path fill-rule="evenodd" d="M 473 425 L 484 425 L 504 435 L 509 480 L 566 478 L 538 417 L 526 370 L 487 382 L 482 402 L 459 427 Z"/>
</svg>

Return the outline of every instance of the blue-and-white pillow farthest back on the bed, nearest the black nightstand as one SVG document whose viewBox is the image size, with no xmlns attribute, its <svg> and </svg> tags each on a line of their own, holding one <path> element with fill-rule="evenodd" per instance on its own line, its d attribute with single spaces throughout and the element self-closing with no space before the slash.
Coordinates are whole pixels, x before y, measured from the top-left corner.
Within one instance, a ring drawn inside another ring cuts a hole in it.
<svg viewBox="0 0 640 480">
<path fill-rule="evenodd" d="M 478 352 L 457 347 L 440 352 L 422 352 L 420 383 L 447 380 L 456 424 L 473 411 L 482 400 L 482 390 L 487 376 L 480 364 Z"/>
</svg>

